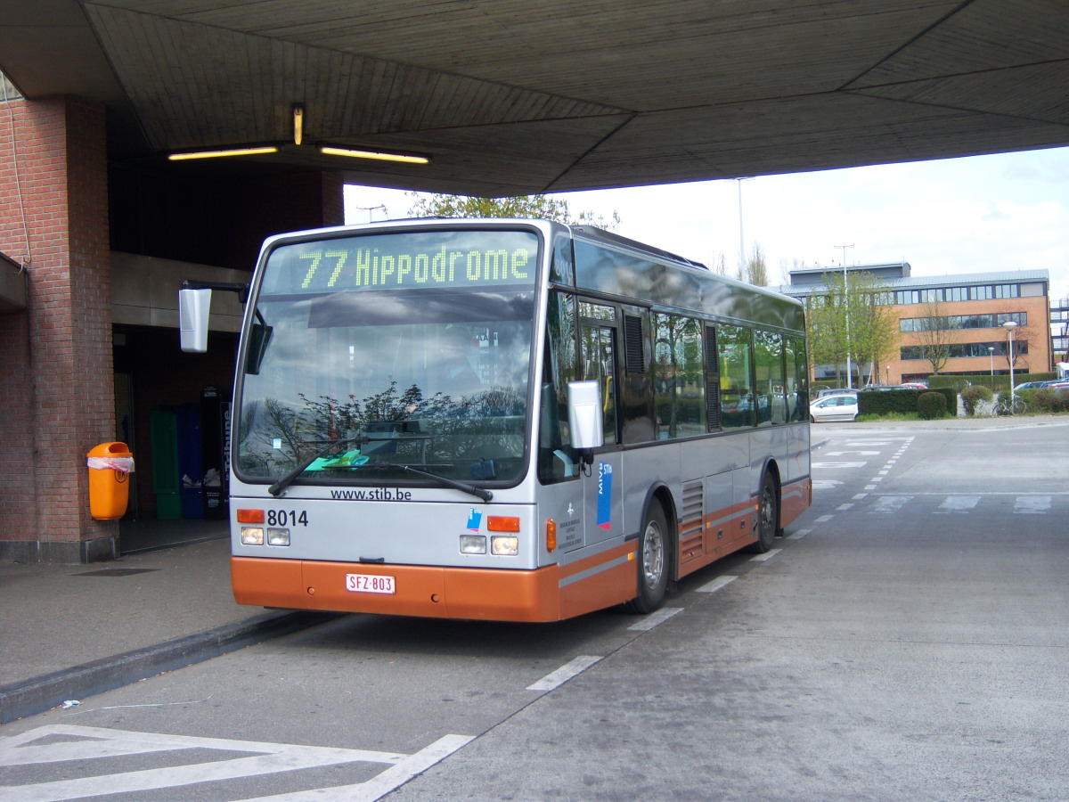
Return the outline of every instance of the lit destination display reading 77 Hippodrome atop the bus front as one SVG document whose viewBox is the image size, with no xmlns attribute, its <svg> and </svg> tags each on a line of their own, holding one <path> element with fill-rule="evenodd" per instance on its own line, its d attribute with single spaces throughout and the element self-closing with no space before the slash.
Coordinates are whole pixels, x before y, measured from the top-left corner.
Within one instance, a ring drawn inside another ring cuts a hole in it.
<svg viewBox="0 0 1069 802">
<path fill-rule="evenodd" d="M 295 243 L 267 260 L 262 292 L 321 293 L 533 284 L 529 231 L 399 232 Z"/>
</svg>

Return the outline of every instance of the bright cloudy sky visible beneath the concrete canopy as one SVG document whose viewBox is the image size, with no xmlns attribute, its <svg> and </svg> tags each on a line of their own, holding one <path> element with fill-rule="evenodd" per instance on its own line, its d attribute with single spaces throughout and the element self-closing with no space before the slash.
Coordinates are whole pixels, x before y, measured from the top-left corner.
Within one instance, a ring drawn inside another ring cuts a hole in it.
<svg viewBox="0 0 1069 802">
<path fill-rule="evenodd" d="M 909 262 L 915 277 L 1045 269 L 1052 302 L 1069 297 L 1069 148 L 559 197 L 573 216 L 619 213 L 632 240 L 708 265 L 723 255 L 732 275 L 740 243 L 757 244 L 773 284 L 845 258 Z M 345 187 L 348 223 L 410 205 L 401 190 Z"/>
</svg>

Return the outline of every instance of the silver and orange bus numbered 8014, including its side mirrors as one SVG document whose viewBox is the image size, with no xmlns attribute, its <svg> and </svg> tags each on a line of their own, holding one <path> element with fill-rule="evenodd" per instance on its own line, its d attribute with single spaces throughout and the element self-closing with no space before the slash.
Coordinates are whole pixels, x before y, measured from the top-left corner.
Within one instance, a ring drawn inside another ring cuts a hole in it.
<svg viewBox="0 0 1069 802">
<path fill-rule="evenodd" d="M 586 226 L 268 238 L 230 436 L 238 603 L 460 619 L 650 613 L 810 504 L 799 302 Z"/>
</svg>

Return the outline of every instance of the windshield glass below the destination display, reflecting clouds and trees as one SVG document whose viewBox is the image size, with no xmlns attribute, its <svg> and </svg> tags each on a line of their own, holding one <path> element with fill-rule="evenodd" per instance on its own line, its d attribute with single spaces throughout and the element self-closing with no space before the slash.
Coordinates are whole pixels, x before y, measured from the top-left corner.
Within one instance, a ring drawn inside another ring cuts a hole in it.
<svg viewBox="0 0 1069 802">
<path fill-rule="evenodd" d="M 368 457 L 449 478 L 515 481 L 523 466 L 533 293 L 437 290 L 263 296 L 270 326 L 241 397 L 238 474 L 277 479 L 339 437 L 367 437 L 307 479 L 412 481 Z M 419 481 L 419 480 L 416 480 Z"/>
</svg>

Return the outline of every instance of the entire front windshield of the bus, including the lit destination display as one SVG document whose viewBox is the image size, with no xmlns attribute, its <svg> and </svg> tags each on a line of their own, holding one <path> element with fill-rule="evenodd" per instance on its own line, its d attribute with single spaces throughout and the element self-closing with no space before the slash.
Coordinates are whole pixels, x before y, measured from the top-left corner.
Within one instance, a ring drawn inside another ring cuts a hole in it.
<svg viewBox="0 0 1069 802">
<path fill-rule="evenodd" d="M 520 481 L 538 253 L 502 229 L 276 248 L 245 337 L 237 476 L 310 460 L 298 481 Z"/>
</svg>

